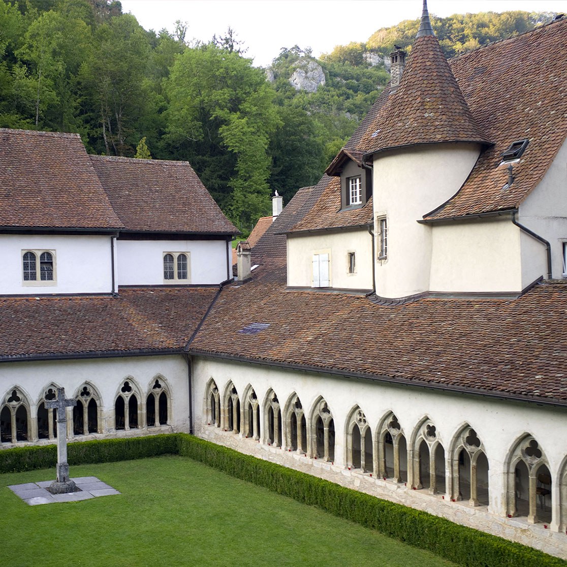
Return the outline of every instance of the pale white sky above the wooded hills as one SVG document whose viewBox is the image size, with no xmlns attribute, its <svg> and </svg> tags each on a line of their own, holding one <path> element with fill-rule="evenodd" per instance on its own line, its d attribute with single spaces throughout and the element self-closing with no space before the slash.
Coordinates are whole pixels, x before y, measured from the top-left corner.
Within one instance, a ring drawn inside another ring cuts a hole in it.
<svg viewBox="0 0 567 567">
<path fill-rule="evenodd" d="M 282 47 L 311 47 L 315 57 L 335 45 L 366 41 L 376 29 L 421 16 L 422 0 L 121 0 L 145 29 L 172 32 L 187 22 L 186 39 L 209 41 L 230 26 L 256 66 Z M 567 0 L 428 0 L 430 14 L 524 10 L 567 13 Z"/>
</svg>

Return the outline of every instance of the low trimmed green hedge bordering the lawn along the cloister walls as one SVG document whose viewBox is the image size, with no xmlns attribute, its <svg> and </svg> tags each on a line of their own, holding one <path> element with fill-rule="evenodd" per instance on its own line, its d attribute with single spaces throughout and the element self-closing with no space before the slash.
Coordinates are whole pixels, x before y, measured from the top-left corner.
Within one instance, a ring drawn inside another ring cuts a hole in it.
<svg viewBox="0 0 567 567">
<path fill-rule="evenodd" d="M 380 500 L 327 480 L 243 455 L 185 433 L 101 439 L 69 443 L 70 465 L 116 462 L 179 454 L 238 479 L 263 486 L 311 506 L 318 506 L 414 547 L 469 567 L 560 567 L 567 561 L 531 547 L 485 534 L 445 518 Z M 55 445 L 0 450 L 0 473 L 55 467 Z"/>
</svg>

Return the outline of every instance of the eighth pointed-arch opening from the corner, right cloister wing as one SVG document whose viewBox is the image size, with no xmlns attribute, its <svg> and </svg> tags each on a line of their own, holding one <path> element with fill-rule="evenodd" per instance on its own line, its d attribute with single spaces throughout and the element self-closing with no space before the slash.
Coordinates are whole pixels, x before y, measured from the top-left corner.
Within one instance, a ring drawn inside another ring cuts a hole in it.
<svg viewBox="0 0 567 567">
<path fill-rule="evenodd" d="M 401 425 L 390 412 L 378 430 L 378 475 L 395 483 L 408 481 L 408 450 Z"/>
</svg>

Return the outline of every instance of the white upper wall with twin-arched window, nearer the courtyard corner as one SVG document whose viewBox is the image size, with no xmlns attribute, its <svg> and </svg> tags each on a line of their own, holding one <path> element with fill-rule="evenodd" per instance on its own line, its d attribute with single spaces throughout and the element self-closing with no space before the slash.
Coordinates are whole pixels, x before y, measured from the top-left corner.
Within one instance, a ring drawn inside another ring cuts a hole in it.
<svg viewBox="0 0 567 567">
<path fill-rule="evenodd" d="M 226 276 L 226 240 L 118 240 L 119 285 L 220 284 Z M 163 253 L 189 252 L 188 281 L 163 280 Z"/>
</svg>

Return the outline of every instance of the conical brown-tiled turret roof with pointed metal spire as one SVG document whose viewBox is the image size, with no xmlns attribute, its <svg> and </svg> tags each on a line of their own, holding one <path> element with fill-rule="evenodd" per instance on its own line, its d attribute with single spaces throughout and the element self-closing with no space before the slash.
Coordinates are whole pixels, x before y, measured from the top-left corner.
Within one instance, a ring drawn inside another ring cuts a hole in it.
<svg viewBox="0 0 567 567">
<path fill-rule="evenodd" d="M 358 148 L 376 153 L 396 147 L 490 140 L 469 111 L 437 37 L 427 6 L 395 94 L 380 109 Z"/>
</svg>

